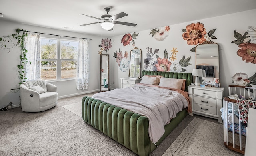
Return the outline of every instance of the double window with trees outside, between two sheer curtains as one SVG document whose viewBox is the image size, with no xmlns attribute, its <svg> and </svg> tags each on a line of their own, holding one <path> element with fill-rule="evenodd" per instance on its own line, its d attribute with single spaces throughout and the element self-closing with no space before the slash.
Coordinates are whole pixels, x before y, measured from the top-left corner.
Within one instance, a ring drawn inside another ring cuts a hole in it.
<svg viewBox="0 0 256 156">
<path fill-rule="evenodd" d="M 76 78 L 78 41 L 40 39 L 41 79 Z"/>
</svg>

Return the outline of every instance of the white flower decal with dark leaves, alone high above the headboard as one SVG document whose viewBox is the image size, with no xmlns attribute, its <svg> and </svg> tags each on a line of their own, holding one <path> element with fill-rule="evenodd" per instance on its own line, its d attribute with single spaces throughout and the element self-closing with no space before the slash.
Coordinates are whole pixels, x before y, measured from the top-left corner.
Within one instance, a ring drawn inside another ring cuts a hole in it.
<svg viewBox="0 0 256 156">
<path fill-rule="evenodd" d="M 154 37 L 157 41 L 163 41 L 167 36 L 169 36 L 170 26 L 160 27 L 151 29 L 150 35 Z"/>
</svg>

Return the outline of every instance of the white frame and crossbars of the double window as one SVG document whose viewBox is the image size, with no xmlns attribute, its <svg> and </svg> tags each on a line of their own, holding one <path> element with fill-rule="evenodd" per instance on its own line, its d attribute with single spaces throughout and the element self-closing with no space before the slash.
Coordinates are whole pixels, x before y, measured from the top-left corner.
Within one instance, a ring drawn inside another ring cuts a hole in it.
<svg viewBox="0 0 256 156">
<path fill-rule="evenodd" d="M 76 77 L 72 78 L 65 78 L 61 79 L 61 61 L 78 61 L 78 59 L 61 59 L 61 41 L 71 41 L 71 42 L 79 42 L 78 39 L 62 39 L 62 38 L 53 38 L 53 37 L 45 37 L 41 36 L 40 39 L 52 39 L 52 40 L 57 40 L 57 58 L 56 59 L 41 59 L 40 56 L 40 70 L 41 70 L 41 61 L 56 61 L 57 66 L 56 66 L 56 79 L 54 80 L 45 80 L 47 82 L 56 82 L 56 81 L 67 81 L 67 80 L 74 80 Z M 78 43 L 79 46 L 79 43 Z M 78 62 L 77 62 L 78 63 Z M 41 75 L 40 75 L 41 77 Z"/>
</svg>

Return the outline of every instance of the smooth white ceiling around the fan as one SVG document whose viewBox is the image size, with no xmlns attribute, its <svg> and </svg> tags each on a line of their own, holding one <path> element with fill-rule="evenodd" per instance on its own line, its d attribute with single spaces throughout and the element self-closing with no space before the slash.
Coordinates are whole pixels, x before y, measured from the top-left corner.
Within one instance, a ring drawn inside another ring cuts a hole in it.
<svg viewBox="0 0 256 156">
<path fill-rule="evenodd" d="M 105 7 L 111 7 L 110 15 L 125 12 L 118 21 L 137 26 L 115 24 L 113 31 L 100 24 L 80 26 L 100 20 L 78 14 L 100 18 Z M 0 20 L 110 37 L 252 9 L 256 0 L 0 0 Z"/>
</svg>

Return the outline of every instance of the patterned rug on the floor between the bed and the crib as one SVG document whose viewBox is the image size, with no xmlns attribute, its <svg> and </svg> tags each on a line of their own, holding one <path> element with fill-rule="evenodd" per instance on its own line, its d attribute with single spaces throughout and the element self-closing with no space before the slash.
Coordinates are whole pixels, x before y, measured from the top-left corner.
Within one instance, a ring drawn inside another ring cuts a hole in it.
<svg viewBox="0 0 256 156">
<path fill-rule="evenodd" d="M 243 156 L 223 144 L 222 124 L 194 118 L 163 156 Z"/>
</svg>

